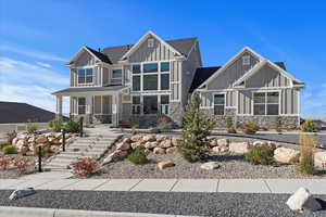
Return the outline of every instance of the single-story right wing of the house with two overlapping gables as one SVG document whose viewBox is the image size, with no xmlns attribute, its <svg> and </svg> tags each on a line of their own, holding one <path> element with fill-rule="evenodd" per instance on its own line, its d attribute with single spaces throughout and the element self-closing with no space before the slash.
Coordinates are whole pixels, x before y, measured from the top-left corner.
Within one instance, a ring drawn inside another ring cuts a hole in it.
<svg viewBox="0 0 326 217">
<path fill-rule="evenodd" d="M 201 110 L 214 115 L 217 126 L 225 127 L 225 117 L 234 117 L 241 126 L 256 122 L 271 128 L 279 116 L 281 126 L 297 128 L 300 124 L 300 89 L 304 84 L 290 75 L 285 64 L 274 63 L 246 47 L 215 72 L 199 68 L 208 77 L 192 89 L 199 92 Z M 211 74 L 211 75 L 210 75 Z"/>
</svg>

